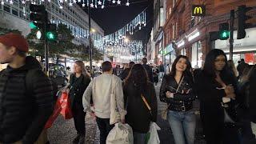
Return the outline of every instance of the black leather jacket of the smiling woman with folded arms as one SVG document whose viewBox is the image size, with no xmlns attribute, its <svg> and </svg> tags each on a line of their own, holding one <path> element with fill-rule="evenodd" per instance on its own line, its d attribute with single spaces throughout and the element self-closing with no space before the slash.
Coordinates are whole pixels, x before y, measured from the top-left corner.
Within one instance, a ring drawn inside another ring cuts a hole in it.
<svg viewBox="0 0 256 144">
<path fill-rule="evenodd" d="M 165 75 L 162 79 L 162 85 L 160 88 L 160 101 L 167 102 L 169 110 L 173 111 L 187 111 L 193 108 L 193 101 L 195 99 L 194 92 L 192 90 L 193 78 L 185 76 L 181 83 L 181 86 L 176 93 L 178 83 L 174 77 Z M 174 98 L 166 98 L 166 91 L 174 93 Z M 188 94 L 186 94 L 188 92 Z"/>
</svg>

